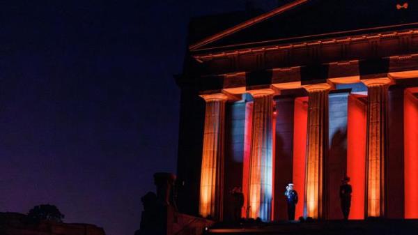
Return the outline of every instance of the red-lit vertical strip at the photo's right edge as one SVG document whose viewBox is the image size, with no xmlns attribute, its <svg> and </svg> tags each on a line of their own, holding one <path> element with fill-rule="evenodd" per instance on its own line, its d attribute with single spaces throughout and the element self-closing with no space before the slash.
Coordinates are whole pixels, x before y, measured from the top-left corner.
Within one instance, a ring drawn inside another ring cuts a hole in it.
<svg viewBox="0 0 418 235">
<path fill-rule="evenodd" d="M 404 112 L 405 218 L 418 218 L 418 88 L 406 89 Z"/>
</svg>

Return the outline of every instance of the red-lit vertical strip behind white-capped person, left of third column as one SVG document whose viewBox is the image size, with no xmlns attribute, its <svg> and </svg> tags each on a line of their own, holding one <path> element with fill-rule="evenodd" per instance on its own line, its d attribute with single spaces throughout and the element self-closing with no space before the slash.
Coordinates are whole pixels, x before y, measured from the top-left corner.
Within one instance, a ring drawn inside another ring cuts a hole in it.
<svg viewBox="0 0 418 235">
<path fill-rule="evenodd" d="M 295 114 L 293 116 L 293 183 L 298 192 L 299 203 L 296 204 L 295 218 L 303 216 L 304 189 L 305 189 L 305 165 L 307 153 L 307 123 L 308 123 L 308 98 L 295 98 Z M 278 197 L 278 196 L 276 196 Z"/>
</svg>

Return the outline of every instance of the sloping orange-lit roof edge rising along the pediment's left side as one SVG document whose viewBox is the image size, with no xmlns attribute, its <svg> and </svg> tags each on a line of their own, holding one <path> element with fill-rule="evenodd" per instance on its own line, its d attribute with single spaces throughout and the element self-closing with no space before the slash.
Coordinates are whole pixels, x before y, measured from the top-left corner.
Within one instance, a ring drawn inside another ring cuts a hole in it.
<svg viewBox="0 0 418 235">
<path fill-rule="evenodd" d="M 235 33 L 237 31 L 240 31 L 241 29 L 245 29 L 245 28 L 247 28 L 249 26 L 252 26 L 254 24 L 257 24 L 259 22 L 262 22 L 264 20 L 267 20 L 270 17 L 273 17 L 275 15 L 279 15 L 281 13 L 284 13 L 287 10 L 290 10 L 292 8 L 295 8 L 296 6 L 301 5 L 302 3 L 306 3 L 307 1 L 309 1 L 309 0 L 296 0 L 296 1 L 293 1 L 291 3 L 286 4 L 284 6 L 281 6 L 279 8 L 276 8 L 276 9 L 274 9 L 274 10 L 268 12 L 268 13 L 264 13 L 264 14 L 258 15 L 257 17 L 251 18 L 251 19 L 249 19 L 249 20 L 247 20 L 245 22 L 242 22 L 240 24 L 237 24 L 235 26 L 232 26 L 231 28 L 225 29 L 224 31 L 220 31 L 219 33 L 215 33 L 212 36 L 209 36 L 207 38 L 204 38 L 203 40 L 200 40 L 199 42 L 194 43 L 193 45 L 190 45 L 189 46 L 189 50 L 199 49 L 199 47 L 202 47 L 203 45 L 207 45 L 208 43 L 212 43 L 212 42 L 214 42 L 216 40 L 219 40 L 221 38 L 224 38 L 226 36 L 229 36 L 232 33 Z"/>
</svg>

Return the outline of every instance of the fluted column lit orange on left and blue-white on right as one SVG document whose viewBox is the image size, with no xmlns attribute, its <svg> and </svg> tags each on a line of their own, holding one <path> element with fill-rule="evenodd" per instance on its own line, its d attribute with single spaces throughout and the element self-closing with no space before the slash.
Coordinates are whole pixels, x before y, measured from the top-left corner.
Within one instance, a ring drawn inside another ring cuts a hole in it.
<svg viewBox="0 0 418 235">
<path fill-rule="evenodd" d="M 272 213 L 272 115 L 271 89 L 249 92 L 254 98 L 249 158 L 249 217 L 271 219 Z"/>
</svg>

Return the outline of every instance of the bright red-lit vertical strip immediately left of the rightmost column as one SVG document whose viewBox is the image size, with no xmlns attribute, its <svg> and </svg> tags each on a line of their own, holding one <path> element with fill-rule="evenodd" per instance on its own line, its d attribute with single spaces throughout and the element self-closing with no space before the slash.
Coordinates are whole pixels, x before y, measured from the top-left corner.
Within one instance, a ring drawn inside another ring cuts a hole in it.
<svg viewBox="0 0 418 235">
<path fill-rule="evenodd" d="M 347 117 L 347 175 L 353 187 L 350 220 L 364 219 L 366 127 L 367 96 L 350 94 Z"/>
</svg>

